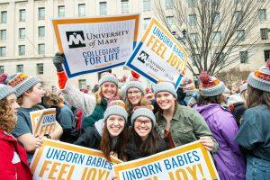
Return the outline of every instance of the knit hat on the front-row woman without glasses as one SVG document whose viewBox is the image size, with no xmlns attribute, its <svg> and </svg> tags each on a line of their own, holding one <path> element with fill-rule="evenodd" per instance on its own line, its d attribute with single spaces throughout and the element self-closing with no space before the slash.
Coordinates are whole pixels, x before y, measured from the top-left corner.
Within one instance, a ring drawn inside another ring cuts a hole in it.
<svg viewBox="0 0 270 180">
<path fill-rule="evenodd" d="M 119 115 L 127 122 L 128 112 L 125 109 L 125 103 L 121 100 L 112 101 L 104 112 L 103 120 L 106 121 L 110 115 Z"/>
</svg>

